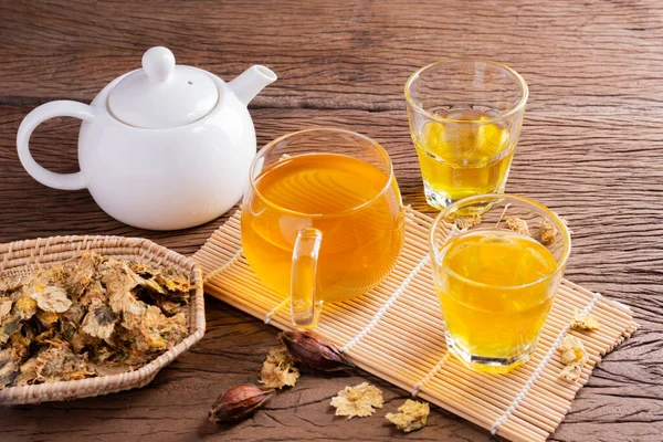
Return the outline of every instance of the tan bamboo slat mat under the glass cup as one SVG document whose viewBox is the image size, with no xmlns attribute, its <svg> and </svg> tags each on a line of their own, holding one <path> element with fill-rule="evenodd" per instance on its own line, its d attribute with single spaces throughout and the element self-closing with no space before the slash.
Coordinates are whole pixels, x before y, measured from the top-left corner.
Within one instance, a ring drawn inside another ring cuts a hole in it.
<svg viewBox="0 0 663 442">
<path fill-rule="evenodd" d="M 396 269 L 367 295 L 325 305 L 316 333 L 357 366 L 513 441 L 544 441 L 559 425 L 601 357 L 638 328 L 631 309 L 564 280 L 532 359 L 509 375 L 476 373 L 448 357 L 429 261 L 432 218 L 407 208 L 406 243 Z M 261 284 L 242 254 L 240 211 L 192 256 L 206 292 L 265 323 L 291 329 L 290 303 Z M 600 329 L 569 332 L 573 309 L 591 311 Z M 571 333 L 589 361 L 576 382 L 558 377 L 556 347 Z"/>
</svg>

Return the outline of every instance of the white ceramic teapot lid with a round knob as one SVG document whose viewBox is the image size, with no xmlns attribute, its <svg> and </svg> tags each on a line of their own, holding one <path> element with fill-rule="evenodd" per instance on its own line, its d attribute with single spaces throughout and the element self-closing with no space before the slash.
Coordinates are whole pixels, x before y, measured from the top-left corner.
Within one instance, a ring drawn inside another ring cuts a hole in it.
<svg viewBox="0 0 663 442">
<path fill-rule="evenodd" d="M 146 129 L 166 129 L 193 123 L 209 114 L 219 101 L 214 81 L 206 71 L 175 65 L 167 48 L 143 55 L 143 69 L 117 83 L 108 108 L 120 122 Z"/>
</svg>

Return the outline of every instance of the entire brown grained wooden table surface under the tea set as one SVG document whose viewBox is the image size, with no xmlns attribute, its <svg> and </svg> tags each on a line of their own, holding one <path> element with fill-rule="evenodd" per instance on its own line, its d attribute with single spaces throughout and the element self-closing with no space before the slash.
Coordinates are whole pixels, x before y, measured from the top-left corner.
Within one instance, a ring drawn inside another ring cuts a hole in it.
<svg viewBox="0 0 663 442">
<path fill-rule="evenodd" d="M 390 152 L 406 203 L 433 213 L 403 102 L 419 66 L 485 57 L 513 66 L 530 97 L 507 191 L 570 220 L 567 276 L 631 305 L 641 329 L 594 370 L 555 441 L 663 438 L 663 4 L 656 0 L 550 2 L 2 1 L 0 4 L 0 241 L 56 234 L 145 236 L 190 254 L 224 218 L 150 232 L 107 217 L 87 191 L 60 191 L 21 167 L 15 134 L 33 107 L 84 103 L 143 52 L 170 48 L 178 62 L 232 80 L 252 64 L 278 74 L 250 105 L 259 147 L 314 126 L 367 134 Z M 39 127 L 36 159 L 75 171 L 78 120 Z M 149 386 L 96 399 L 0 410 L 0 439 L 487 441 L 443 410 L 402 435 L 385 410 L 335 418 L 329 399 L 362 380 L 392 409 L 408 393 L 365 373 L 304 376 L 253 419 L 207 422 L 228 387 L 254 381 L 276 330 L 213 298 L 208 332 Z"/>
</svg>

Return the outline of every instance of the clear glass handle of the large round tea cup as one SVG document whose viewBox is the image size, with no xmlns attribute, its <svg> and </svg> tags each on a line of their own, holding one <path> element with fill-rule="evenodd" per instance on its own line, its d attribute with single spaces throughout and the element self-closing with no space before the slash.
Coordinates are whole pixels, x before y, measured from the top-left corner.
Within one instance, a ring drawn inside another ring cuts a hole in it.
<svg viewBox="0 0 663 442">
<path fill-rule="evenodd" d="M 291 273 L 291 315 L 295 327 L 316 326 L 322 299 L 317 299 L 317 263 L 323 232 L 305 228 L 297 233 Z"/>
</svg>

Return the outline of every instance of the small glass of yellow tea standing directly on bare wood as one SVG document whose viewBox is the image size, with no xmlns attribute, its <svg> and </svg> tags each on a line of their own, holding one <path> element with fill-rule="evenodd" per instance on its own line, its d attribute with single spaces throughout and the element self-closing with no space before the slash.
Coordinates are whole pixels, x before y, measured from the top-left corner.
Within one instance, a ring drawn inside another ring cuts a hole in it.
<svg viewBox="0 0 663 442">
<path fill-rule="evenodd" d="M 517 72 L 487 61 L 441 61 L 410 76 L 410 133 L 430 206 L 504 192 L 527 94 Z"/>
</svg>

